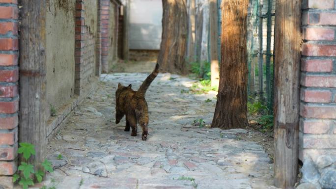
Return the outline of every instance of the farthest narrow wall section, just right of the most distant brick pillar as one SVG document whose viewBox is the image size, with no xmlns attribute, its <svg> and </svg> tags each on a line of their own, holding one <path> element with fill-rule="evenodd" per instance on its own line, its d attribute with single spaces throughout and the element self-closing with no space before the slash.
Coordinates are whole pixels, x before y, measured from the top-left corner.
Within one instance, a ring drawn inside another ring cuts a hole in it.
<svg viewBox="0 0 336 189">
<path fill-rule="evenodd" d="M 117 38 L 116 38 L 116 31 L 117 31 L 117 22 L 116 18 L 117 15 L 115 14 L 115 8 L 117 5 L 114 3 L 110 3 L 110 19 L 109 19 L 109 54 L 108 54 L 108 62 L 109 62 L 109 71 L 113 68 L 117 60 Z"/>
</svg>

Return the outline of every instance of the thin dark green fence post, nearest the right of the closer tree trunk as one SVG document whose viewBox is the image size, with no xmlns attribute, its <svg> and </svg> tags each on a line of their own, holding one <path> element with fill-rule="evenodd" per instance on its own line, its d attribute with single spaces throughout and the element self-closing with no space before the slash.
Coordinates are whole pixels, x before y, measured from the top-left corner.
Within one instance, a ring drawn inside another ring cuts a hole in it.
<svg viewBox="0 0 336 189">
<path fill-rule="evenodd" d="M 259 86 L 259 102 L 264 102 L 264 79 L 263 79 L 263 42 L 262 42 L 262 4 L 259 4 L 259 54 L 258 54 L 258 86 Z"/>
</svg>

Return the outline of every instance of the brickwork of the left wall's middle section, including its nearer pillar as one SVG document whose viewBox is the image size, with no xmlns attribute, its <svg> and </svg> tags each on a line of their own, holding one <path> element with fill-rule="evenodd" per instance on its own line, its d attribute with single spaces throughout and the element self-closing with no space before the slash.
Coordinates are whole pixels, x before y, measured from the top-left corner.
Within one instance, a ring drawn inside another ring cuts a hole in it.
<svg viewBox="0 0 336 189">
<path fill-rule="evenodd" d="M 76 0 L 75 93 L 78 95 L 90 78 L 96 74 L 96 31 L 89 26 L 92 21 L 85 17 L 85 8 L 92 9 L 92 7 L 85 7 L 85 0 Z"/>
</svg>

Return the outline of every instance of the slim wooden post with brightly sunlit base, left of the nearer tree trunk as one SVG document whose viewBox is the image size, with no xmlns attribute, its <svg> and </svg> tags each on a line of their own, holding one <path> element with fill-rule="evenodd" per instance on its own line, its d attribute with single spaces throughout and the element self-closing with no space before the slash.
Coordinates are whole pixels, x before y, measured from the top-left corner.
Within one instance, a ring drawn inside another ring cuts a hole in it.
<svg viewBox="0 0 336 189">
<path fill-rule="evenodd" d="M 210 0 L 210 63 L 211 63 L 211 86 L 219 86 L 219 63 L 218 63 L 218 14 L 217 0 Z"/>
</svg>

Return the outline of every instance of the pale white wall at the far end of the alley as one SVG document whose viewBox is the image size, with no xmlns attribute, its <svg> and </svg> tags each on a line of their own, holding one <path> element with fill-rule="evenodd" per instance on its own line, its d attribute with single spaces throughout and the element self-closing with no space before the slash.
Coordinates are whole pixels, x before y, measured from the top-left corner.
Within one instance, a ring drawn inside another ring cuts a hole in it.
<svg viewBox="0 0 336 189">
<path fill-rule="evenodd" d="M 130 0 L 130 49 L 159 50 L 162 0 Z"/>
</svg>

